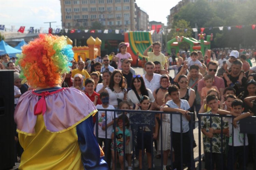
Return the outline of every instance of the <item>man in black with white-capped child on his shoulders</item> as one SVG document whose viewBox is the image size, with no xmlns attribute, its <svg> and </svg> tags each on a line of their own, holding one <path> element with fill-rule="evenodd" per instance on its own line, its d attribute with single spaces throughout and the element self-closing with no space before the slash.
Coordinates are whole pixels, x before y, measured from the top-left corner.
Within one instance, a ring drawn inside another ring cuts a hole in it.
<svg viewBox="0 0 256 170">
<path fill-rule="evenodd" d="M 231 65 L 231 74 L 228 75 L 230 81 L 235 85 L 233 88 L 236 90 L 236 96 L 238 96 L 242 91 L 243 88 L 240 87 L 244 87 L 246 85 L 246 81 L 247 78 L 243 77 L 242 78 L 242 84 L 238 84 L 238 78 L 239 78 L 239 74 L 241 72 L 242 69 L 242 65 L 243 63 L 240 60 L 236 60 L 232 63 Z M 225 78 L 223 78 L 224 82 L 225 82 L 225 87 L 227 87 L 227 81 Z"/>
</svg>

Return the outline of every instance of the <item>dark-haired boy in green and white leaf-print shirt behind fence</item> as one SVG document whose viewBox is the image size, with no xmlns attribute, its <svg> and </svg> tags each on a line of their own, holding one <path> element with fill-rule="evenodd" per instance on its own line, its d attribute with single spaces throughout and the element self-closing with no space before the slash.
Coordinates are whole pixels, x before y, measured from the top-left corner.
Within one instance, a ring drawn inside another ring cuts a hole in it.
<svg viewBox="0 0 256 170">
<path fill-rule="evenodd" d="M 210 111 L 204 113 L 205 115 L 217 114 L 219 100 L 216 95 L 210 94 L 206 98 L 208 107 L 211 108 Z M 212 119 L 212 127 L 210 126 L 210 121 Z M 216 169 L 222 169 L 221 165 L 221 154 L 225 154 L 225 140 L 221 136 L 221 117 L 201 117 L 201 131 L 203 136 L 204 145 L 204 155 L 205 155 L 205 169 L 211 169 L 216 165 Z M 228 123 L 223 122 L 223 135 L 228 132 Z M 211 140 L 212 138 L 212 140 Z M 221 140 L 223 140 L 223 149 L 221 150 Z M 210 145 L 212 143 L 212 161 L 211 161 L 211 149 Z M 211 164 L 212 163 L 212 164 Z M 224 168 L 224 167 L 223 167 Z"/>
</svg>

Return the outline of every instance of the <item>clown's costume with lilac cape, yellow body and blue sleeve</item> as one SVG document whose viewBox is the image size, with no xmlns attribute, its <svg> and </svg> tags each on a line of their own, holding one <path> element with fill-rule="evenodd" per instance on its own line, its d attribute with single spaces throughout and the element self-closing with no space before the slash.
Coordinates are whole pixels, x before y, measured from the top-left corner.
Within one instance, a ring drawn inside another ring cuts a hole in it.
<svg viewBox="0 0 256 170">
<path fill-rule="evenodd" d="M 24 149 L 19 169 L 108 169 L 93 131 L 96 112 L 74 88 L 27 91 L 14 113 Z"/>
</svg>

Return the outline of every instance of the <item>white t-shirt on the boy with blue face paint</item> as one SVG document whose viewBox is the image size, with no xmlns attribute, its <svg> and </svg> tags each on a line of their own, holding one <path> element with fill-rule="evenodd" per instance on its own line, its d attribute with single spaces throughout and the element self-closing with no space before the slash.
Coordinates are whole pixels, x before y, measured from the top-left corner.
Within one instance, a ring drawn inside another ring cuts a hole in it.
<svg viewBox="0 0 256 170">
<path fill-rule="evenodd" d="M 97 109 L 113 109 L 113 110 L 115 109 L 115 107 L 112 105 L 109 105 L 108 108 L 103 108 L 102 104 L 96 105 L 96 108 Z M 116 114 L 116 118 L 117 118 L 117 114 Z M 107 111 L 105 116 L 105 111 L 98 111 L 98 137 L 99 138 L 105 138 L 106 134 L 105 134 L 105 131 L 102 130 L 102 127 L 105 126 L 105 124 L 110 123 L 113 119 L 114 119 L 114 112 Z M 113 130 L 112 125 L 107 128 L 106 138 L 111 139 L 112 130 Z M 96 133 L 96 124 L 94 125 L 94 132 Z"/>
</svg>

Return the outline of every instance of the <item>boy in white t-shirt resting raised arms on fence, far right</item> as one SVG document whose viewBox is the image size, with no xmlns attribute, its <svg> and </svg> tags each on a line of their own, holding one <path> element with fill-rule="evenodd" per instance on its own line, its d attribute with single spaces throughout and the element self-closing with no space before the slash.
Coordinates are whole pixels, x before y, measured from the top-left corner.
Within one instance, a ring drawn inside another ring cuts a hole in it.
<svg viewBox="0 0 256 170">
<path fill-rule="evenodd" d="M 232 115 L 235 118 L 227 118 L 229 125 L 229 149 L 228 149 L 228 169 L 234 169 L 234 163 L 238 159 L 240 169 L 243 169 L 246 162 L 243 162 L 243 156 L 245 156 L 245 160 L 247 160 L 248 153 L 248 138 L 247 134 L 240 133 L 240 125 L 239 120 L 251 116 L 250 112 L 242 113 L 244 110 L 243 101 L 240 99 L 233 100 L 231 104 L 231 112 L 218 110 L 218 114 L 222 115 Z M 234 129 L 233 129 L 234 127 Z M 232 137 L 232 131 L 234 136 Z M 245 136 L 244 136 L 245 135 Z M 245 137 L 245 143 L 244 143 Z M 232 141 L 232 138 L 234 141 Z M 244 153 L 244 145 L 245 145 L 245 155 Z M 234 153 L 233 153 L 234 150 Z"/>
</svg>

